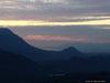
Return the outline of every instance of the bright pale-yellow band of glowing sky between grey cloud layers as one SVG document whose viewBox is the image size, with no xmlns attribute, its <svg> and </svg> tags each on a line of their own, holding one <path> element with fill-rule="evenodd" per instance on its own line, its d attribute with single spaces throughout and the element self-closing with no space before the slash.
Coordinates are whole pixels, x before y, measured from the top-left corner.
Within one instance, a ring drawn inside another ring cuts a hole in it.
<svg viewBox="0 0 110 83">
<path fill-rule="evenodd" d="M 110 25 L 110 20 L 96 20 L 82 22 L 44 22 L 44 21 L 15 21 L 15 20 L 0 20 L 2 27 L 16 25 Z"/>
</svg>

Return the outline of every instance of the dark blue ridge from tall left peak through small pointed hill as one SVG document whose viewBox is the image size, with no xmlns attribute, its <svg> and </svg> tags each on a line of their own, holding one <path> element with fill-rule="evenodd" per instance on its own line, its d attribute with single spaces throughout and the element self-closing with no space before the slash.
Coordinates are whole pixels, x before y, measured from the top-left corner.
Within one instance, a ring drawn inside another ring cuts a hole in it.
<svg viewBox="0 0 110 83">
<path fill-rule="evenodd" d="M 66 56 L 69 58 L 80 53 L 75 48 L 68 48 L 61 52 L 34 48 L 7 28 L 0 29 L 0 48 L 12 53 L 25 55 L 33 61 L 64 59 L 64 56 L 66 59 Z"/>
</svg>

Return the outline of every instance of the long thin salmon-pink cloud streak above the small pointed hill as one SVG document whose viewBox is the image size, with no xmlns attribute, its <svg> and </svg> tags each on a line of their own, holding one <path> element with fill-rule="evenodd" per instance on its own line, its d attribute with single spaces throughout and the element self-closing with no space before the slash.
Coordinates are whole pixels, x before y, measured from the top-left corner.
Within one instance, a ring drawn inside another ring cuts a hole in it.
<svg viewBox="0 0 110 83">
<path fill-rule="evenodd" d="M 66 42 L 89 42 L 89 43 L 110 43 L 110 40 L 94 40 L 86 37 L 61 37 L 61 35 L 26 35 L 25 40 L 36 41 L 66 41 Z"/>
</svg>

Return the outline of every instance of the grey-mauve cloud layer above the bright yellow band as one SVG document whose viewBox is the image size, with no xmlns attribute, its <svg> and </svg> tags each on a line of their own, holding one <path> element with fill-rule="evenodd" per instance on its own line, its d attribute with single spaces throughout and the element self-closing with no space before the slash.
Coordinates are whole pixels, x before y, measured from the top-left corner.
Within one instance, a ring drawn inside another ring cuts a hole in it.
<svg viewBox="0 0 110 83">
<path fill-rule="evenodd" d="M 55 22 L 107 20 L 110 19 L 109 8 L 110 0 L 0 0 L 0 19 Z"/>
</svg>

